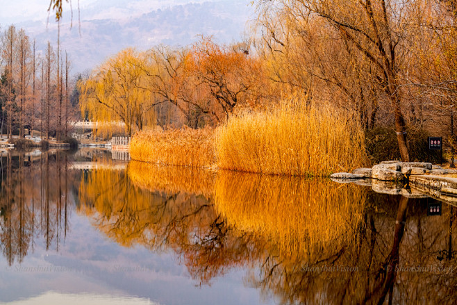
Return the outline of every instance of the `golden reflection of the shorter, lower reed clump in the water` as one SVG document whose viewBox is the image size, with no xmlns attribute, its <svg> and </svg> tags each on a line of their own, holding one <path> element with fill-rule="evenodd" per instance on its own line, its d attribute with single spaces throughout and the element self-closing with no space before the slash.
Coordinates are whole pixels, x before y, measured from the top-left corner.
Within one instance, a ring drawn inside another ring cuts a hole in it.
<svg viewBox="0 0 457 305">
<path fill-rule="evenodd" d="M 215 173 L 209 170 L 160 166 L 138 161 L 128 163 L 127 173 L 135 186 L 151 192 L 186 192 L 207 198 L 213 193 L 215 181 Z"/>
</svg>

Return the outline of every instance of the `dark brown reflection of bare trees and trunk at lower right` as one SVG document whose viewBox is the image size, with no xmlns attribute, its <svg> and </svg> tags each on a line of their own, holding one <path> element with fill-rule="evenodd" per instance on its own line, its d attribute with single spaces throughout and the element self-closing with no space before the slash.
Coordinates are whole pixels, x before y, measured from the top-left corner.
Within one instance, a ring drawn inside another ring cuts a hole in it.
<svg viewBox="0 0 457 305">
<path fill-rule="evenodd" d="M 283 304 L 452 303 L 454 276 L 449 270 L 424 269 L 449 266 L 449 261 L 437 261 L 435 254 L 445 243 L 443 219 L 424 219 L 423 212 L 414 211 L 420 203 L 405 197 L 392 203 L 397 215 L 374 213 L 374 207 L 367 206 L 352 242 L 323 249 L 322 258 L 267 257 L 251 283 L 276 295 Z"/>
</svg>

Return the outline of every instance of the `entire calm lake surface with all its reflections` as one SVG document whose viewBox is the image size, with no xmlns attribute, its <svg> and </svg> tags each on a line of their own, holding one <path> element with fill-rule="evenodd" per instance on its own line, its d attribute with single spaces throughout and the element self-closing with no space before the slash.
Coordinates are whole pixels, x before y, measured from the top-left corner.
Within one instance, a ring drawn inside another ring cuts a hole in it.
<svg viewBox="0 0 457 305">
<path fill-rule="evenodd" d="M 97 149 L 3 152 L 0 174 L 1 304 L 456 302 L 434 199 Z"/>
</svg>

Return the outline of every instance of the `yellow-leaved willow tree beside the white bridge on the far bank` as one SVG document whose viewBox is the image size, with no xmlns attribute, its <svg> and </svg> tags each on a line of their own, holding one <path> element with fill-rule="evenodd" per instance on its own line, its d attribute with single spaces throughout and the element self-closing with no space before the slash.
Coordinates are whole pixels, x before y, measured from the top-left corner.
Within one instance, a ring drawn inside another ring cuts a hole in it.
<svg viewBox="0 0 457 305">
<path fill-rule="evenodd" d="M 94 122 L 124 122 L 131 135 L 155 123 L 151 92 L 145 88 L 142 58 L 125 49 L 101 65 L 89 79 L 79 81 L 81 112 Z M 108 125 L 106 125 L 108 126 Z"/>
</svg>

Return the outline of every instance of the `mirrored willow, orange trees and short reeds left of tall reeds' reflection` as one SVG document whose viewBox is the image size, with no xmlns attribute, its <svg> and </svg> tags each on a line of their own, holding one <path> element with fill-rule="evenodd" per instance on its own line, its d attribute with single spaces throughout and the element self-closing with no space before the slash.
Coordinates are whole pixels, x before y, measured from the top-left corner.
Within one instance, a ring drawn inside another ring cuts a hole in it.
<svg viewBox="0 0 457 305">
<path fill-rule="evenodd" d="M 208 200 L 214 174 L 130 163 L 128 176 L 98 170 L 81 181 L 85 213 L 110 238 L 126 246 L 171 249 L 201 283 L 251 259 L 258 241 L 233 235 Z"/>
</svg>

